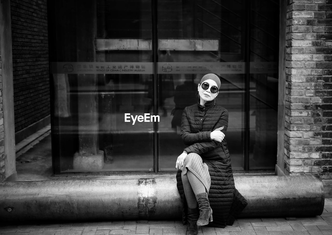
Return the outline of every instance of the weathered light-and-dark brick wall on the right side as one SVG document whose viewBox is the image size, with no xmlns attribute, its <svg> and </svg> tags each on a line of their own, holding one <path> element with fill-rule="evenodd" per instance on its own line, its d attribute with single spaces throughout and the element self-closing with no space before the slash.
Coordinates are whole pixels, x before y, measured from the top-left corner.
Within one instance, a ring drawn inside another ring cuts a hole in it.
<svg viewBox="0 0 332 235">
<path fill-rule="evenodd" d="M 332 0 L 290 0 L 285 173 L 332 178 Z"/>
</svg>

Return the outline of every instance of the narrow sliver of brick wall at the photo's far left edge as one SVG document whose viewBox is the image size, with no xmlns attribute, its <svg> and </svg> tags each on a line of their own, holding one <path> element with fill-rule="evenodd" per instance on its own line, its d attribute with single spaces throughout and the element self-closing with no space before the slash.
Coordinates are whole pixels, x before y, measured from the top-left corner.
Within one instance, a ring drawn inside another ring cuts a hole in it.
<svg viewBox="0 0 332 235">
<path fill-rule="evenodd" d="M 5 179 L 5 144 L 2 111 L 2 60 L 0 51 L 0 181 Z"/>
</svg>

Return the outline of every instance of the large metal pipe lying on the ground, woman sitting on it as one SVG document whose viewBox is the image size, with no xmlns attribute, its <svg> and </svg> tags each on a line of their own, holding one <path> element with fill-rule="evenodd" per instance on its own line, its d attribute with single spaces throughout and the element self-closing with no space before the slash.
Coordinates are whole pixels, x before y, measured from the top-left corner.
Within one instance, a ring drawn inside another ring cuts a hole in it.
<svg viewBox="0 0 332 235">
<path fill-rule="evenodd" d="M 234 177 L 247 199 L 241 217 L 314 216 L 324 191 L 314 176 Z M 21 181 L 0 183 L 0 219 L 181 219 L 175 178 Z"/>
</svg>

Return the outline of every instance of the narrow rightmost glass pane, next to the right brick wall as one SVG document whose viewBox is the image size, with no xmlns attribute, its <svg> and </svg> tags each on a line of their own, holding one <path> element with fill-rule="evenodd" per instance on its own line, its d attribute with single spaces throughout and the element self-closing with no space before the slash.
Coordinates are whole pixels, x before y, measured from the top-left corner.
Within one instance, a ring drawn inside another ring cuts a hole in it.
<svg viewBox="0 0 332 235">
<path fill-rule="evenodd" d="M 250 169 L 274 169 L 277 160 L 279 1 L 252 1 Z"/>
</svg>

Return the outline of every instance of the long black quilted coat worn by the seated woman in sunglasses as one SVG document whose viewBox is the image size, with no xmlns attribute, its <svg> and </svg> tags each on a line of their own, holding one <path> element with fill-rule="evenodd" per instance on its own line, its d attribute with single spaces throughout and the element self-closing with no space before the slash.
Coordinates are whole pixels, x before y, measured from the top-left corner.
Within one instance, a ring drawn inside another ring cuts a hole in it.
<svg viewBox="0 0 332 235">
<path fill-rule="evenodd" d="M 244 197 L 235 189 L 231 160 L 226 139 L 221 143 L 211 140 L 210 133 L 219 127 L 228 127 L 228 111 L 224 107 L 208 101 L 205 107 L 200 104 L 188 106 L 183 110 L 181 138 L 188 147 L 188 153 L 199 154 L 208 166 L 211 187 L 208 199 L 212 208 L 213 222 L 207 226 L 224 228 L 232 225 L 237 213 L 247 205 Z M 225 134 L 225 136 L 227 136 Z M 183 223 L 187 223 L 187 203 L 183 191 L 181 171 L 177 172 L 177 187 L 184 202 Z"/>
</svg>

